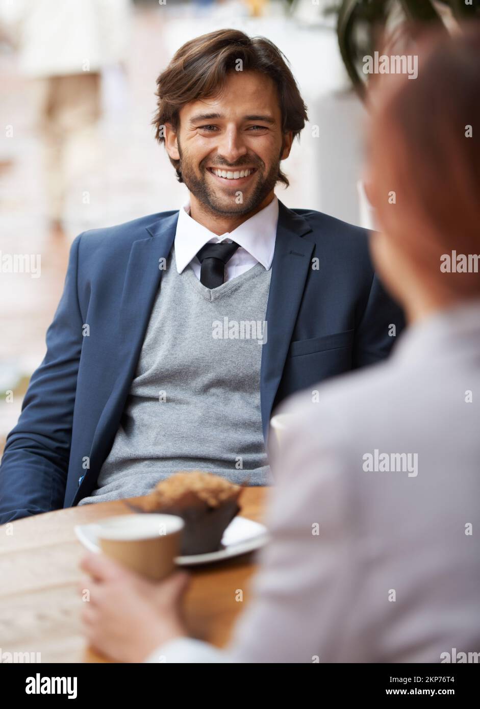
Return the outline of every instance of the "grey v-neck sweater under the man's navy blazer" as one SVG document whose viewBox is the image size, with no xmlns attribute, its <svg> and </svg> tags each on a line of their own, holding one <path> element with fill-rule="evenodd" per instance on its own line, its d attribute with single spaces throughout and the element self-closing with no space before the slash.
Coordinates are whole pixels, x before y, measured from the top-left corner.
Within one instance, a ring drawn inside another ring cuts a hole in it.
<svg viewBox="0 0 480 709">
<path fill-rule="evenodd" d="M 121 425 L 80 505 L 143 495 L 177 470 L 272 483 L 260 413 L 271 275 L 258 263 L 210 290 L 177 272 L 172 250 Z"/>
</svg>

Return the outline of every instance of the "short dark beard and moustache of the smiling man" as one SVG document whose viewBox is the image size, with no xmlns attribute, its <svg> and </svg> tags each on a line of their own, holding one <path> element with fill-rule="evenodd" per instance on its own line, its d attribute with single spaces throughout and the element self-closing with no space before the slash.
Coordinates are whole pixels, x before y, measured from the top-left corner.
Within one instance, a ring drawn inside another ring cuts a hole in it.
<svg viewBox="0 0 480 709">
<path fill-rule="evenodd" d="M 243 215 L 254 211 L 260 204 L 262 204 L 264 199 L 267 197 L 267 195 L 270 194 L 272 189 L 274 189 L 274 186 L 279 180 L 280 158 L 281 153 L 283 152 L 283 145 L 281 147 L 281 152 L 277 162 L 272 165 L 267 175 L 265 175 L 264 173 L 265 164 L 263 160 L 260 160 L 259 157 L 257 157 L 255 160 L 252 160 L 251 158 L 245 158 L 243 162 L 244 165 L 252 166 L 253 164 L 253 166 L 257 168 L 257 172 L 255 172 L 255 175 L 258 175 L 259 177 L 255 178 L 254 175 L 254 177 L 252 178 L 257 179 L 257 184 L 255 185 L 252 194 L 250 194 L 247 200 L 243 201 L 242 203 L 237 203 L 238 193 L 242 193 L 242 190 L 233 188 L 234 191 L 231 197 L 231 204 L 225 206 L 225 203 L 223 203 L 223 200 L 225 198 L 218 199 L 213 187 L 207 184 L 207 177 L 205 174 L 207 172 L 207 169 L 203 162 L 200 163 L 200 172 L 202 176 L 204 175 L 204 177 L 202 178 L 195 173 L 191 164 L 184 160 L 184 156 L 182 155 L 182 150 L 180 148 L 179 143 L 178 150 L 180 156 L 179 170 L 182 173 L 183 182 L 186 184 L 191 194 L 193 194 L 196 199 L 198 199 L 204 206 L 206 206 L 209 211 L 214 214 Z M 210 160 L 210 158 L 208 158 L 208 160 Z M 215 167 L 218 167 L 219 169 L 241 170 L 242 164 L 228 165 L 218 163 L 215 165 Z"/>
</svg>

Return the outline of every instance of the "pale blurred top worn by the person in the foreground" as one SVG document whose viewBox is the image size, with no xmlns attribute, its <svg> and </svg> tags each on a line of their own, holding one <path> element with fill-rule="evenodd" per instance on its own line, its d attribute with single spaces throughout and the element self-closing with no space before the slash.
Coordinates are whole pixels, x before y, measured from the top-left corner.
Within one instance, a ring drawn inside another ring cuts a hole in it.
<svg viewBox="0 0 480 709">
<path fill-rule="evenodd" d="M 145 661 L 440 663 L 479 652 L 479 352 L 477 301 L 413 325 L 381 364 L 291 399 L 272 541 L 233 640 L 221 651 L 179 638 Z M 375 450 L 417 462 L 372 470 Z"/>
</svg>

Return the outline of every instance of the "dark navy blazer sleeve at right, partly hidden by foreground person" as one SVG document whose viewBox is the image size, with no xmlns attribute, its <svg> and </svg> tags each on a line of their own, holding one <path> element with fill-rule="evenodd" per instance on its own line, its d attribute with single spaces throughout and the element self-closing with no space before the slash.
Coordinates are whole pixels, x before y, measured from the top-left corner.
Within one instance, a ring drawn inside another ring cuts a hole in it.
<svg viewBox="0 0 480 709">
<path fill-rule="evenodd" d="M 352 368 L 375 364 L 388 357 L 396 337 L 404 327 L 402 309 L 386 293 L 374 274 L 367 306 L 355 329 Z"/>
</svg>

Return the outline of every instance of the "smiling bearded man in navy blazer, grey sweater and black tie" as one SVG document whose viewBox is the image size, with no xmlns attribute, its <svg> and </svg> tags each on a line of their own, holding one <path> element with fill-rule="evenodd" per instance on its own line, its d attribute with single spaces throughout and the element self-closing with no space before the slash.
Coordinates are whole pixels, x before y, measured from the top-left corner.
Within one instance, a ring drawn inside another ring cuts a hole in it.
<svg viewBox="0 0 480 709">
<path fill-rule="evenodd" d="M 189 203 L 74 240 L 6 443 L 1 523 L 141 495 L 179 469 L 269 484 L 272 408 L 383 359 L 402 327 L 364 230 L 274 195 L 307 118 L 274 45 L 204 35 L 157 87 Z"/>
</svg>

